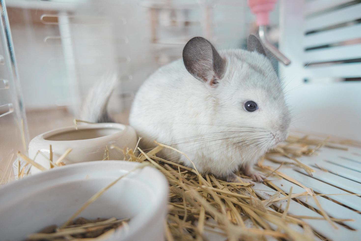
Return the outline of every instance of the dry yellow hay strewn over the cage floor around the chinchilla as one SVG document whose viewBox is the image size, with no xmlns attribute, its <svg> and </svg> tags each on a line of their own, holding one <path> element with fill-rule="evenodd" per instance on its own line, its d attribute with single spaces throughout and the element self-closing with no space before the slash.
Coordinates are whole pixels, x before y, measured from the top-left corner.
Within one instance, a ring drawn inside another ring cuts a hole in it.
<svg viewBox="0 0 361 241">
<path fill-rule="evenodd" d="M 352 141 L 338 143 L 360 145 Z M 314 240 L 315 237 L 325 239 L 321 234 L 313 231 L 303 220 L 314 217 L 296 217 L 287 214 L 291 198 L 301 196 L 308 195 L 310 198 L 313 198 L 318 206 L 318 212 L 331 225 L 334 225 L 334 222 L 342 224 L 343 221 L 350 221 L 330 218 L 321 205 L 319 205 L 316 198 L 317 195 L 331 194 L 315 194 L 312 189 L 303 186 L 297 180 L 284 175 L 278 170 L 283 165 L 291 165 L 302 168 L 309 175 L 312 175 L 314 170 L 301 163 L 297 158 L 300 156 L 317 155 L 317 150 L 323 147 L 347 150 L 345 147 L 331 143 L 328 141 L 328 138 L 320 140 L 311 139 L 307 135 L 303 137 L 290 136 L 286 142 L 278 145 L 262 157 L 258 161 L 258 169 L 264 172 L 267 177 L 264 183 L 275 190 L 273 195 L 267 194 L 267 198 L 259 197 L 255 190 L 260 190 L 253 189 L 252 182 L 249 181 L 248 177 L 243 176 L 242 173 L 237 173 L 239 175 L 239 182 L 231 183 L 220 180 L 211 174 L 202 175 L 194 165 L 193 168 L 190 168 L 159 158 L 157 153 L 163 148 L 170 148 L 186 156 L 183 152 L 161 143 L 157 143 L 157 147 L 148 152 L 136 147 L 135 150 L 138 150 L 137 153 L 139 155 L 129 148 L 124 150 L 116 146 L 110 146 L 109 148 L 122 152 L 128 161 L 143 163 L 138 168 L 151 165 L 159 169 L 166 176 L 169 182 L 169 205 L 167 221 L 165 223 L 165 236 L 167 240 L 209 240 L 209 238 L 214 240 L 216 238 L 216 240 L 235 241 L 266 240 L 269 237 L 280 240 Z M 51 167 L 55 168 L 65 165 L 62 160 L 70 151 L 69 149 L 55 162 L 53 162 L 52 155 L 50 155 L 48 159 Z M 18 156 L 27 162 L 26 165 L 34 165 L 36 167 L 39 165 L 21 153 L 18 153 Z M 287 158 L 287 161 L 280 162 L 275 158 L 277 156 L 283 156 Z M 279 163 L 278 168 L 264 165 L 264 159 Z M 104 152 L 104 160 L 109 160 L 108 147 Z M 45 168 L 40 167 L 39 169 Z M 19 168 L 19 178 L 26 176 L 24 175 L 24 170 L 25 167 Z M 95 194 L 67 222 L 69 223 L 76 218 L 83 209 L 121 178 L 119 177 L 112 184 Z M 292 193 L 291 187 L 288 193 L 284 193 L 271 182 L 279 178 L 287 179 L 295 185 L 303 187 L 305 191 L 302 193 Z M 287 205 L 284 211 L 273 205 L 273 203 L 285 199 L 287 200 Z M 67 223 L 63 226 L 66 225 Z M 302 227 L 302 231 L 296 231 L 299 228 L 292 228 L 295 225 Z"/>
</svg>

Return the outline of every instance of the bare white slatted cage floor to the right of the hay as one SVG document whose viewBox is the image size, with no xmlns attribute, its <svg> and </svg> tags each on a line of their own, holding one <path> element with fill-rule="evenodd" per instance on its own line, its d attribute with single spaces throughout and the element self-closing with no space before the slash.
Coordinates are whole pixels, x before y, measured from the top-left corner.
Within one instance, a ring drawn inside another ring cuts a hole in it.
<svg viewBox="0 0 361 241">
<path fill-rule="evenodd" d="M 289 162 L 290 159 L 274 156 L 272 161 L 265 159 L 262 165 L 280 176 L 271 178 L 263 184 L 253 186 L 257 195 L 268 199 L 274 192 L 282 191 L 280 197 L 292 193 L 308 191 L 314 194 L 360 194 L 361 193 L 361 148 L 360 146 L 335 145 L 342 149 L 322 147 L 311 156 L 297 158 L 301 163 L 314 170 L 312 176 L 302 168 L 295 168 L 280 163 Z M 347 150 L 346 150 L 347 149 Z M 279 163 L 277 163 L 279 162 Z M 274 180 L 270 180 L 274 179 Z M 311 190 L 312 189 L 312 190 Z M 284 210 L 287 200 L 274 203 Z M 335 219 L 342 221 L 327 221 L 324 212 Z M 305 216 L 303 219 L 310 225 L 315 234 L 315 239 L 327 240 L 360 240 L 361 239 L 361 197 L 357 195 L 310 195 L 292 198 L 287 214 L 295 217 Z M 307 217 L 306 217 L 307 216 Z M 311 219 L 310 217 L 313 217 Z M 349 220 L 349 221 L 345 221 Z M 294 225 L 296 230 L 302 230 Z M 319 234 L 319 235 L 318 235 Z"/>
</svg>

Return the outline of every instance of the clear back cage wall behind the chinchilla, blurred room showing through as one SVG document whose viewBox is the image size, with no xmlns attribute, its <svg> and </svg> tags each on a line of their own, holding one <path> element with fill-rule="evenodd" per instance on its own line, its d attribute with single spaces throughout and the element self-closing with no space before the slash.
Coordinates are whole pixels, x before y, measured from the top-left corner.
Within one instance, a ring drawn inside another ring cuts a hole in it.
<svg viewBox="0 0 361 241">
<path fill-rule="evenodd" d="M 247 1 L 238 0 L 7 4 L 22 85 L 29 88 L 26 108 L 67 106 L 74 114 L 89 87 L 109 70 L 116 70 L 121 82 L 110 104 L 119 112 L 129 108 L 149 74 L 182 56 L 192 36 L 205 36 L 218 47 L 244 48 L 255 29 Z M 277 9 L 271 18 L 278 25 Z"/>
</svg>

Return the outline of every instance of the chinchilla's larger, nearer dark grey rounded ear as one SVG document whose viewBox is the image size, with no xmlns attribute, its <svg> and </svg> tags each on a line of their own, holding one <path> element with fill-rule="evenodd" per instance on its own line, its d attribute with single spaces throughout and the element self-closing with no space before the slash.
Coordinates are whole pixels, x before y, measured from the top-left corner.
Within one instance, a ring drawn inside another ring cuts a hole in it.
<svg viewBox="0 0 361 241">
<path fill-rule="evenodd" d="M 211 86 L 223 78 L 226 69 L 226 60 L 202 37 L 194 37 L 184 46 L 183 63 L 192 76 Z"/>
</svg>

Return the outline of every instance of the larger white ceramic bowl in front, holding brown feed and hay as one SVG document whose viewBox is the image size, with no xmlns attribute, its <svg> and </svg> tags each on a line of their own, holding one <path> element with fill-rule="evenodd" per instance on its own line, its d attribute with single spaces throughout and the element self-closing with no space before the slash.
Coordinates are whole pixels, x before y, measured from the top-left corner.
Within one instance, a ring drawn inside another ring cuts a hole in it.
<svg viewBox="0 0 361 241">
<path fill-rule="evenodd" d="M 97 161 L 54 168 L 0 189 L 0 240 L 23 240 L 48 225 L 61 225 L 93 194 L 139 163 Z M 108 240 L 164 240 L 168 182 L 152 167 L 122 178 L 79 216 L 130 218 Z"/>
</svg>

